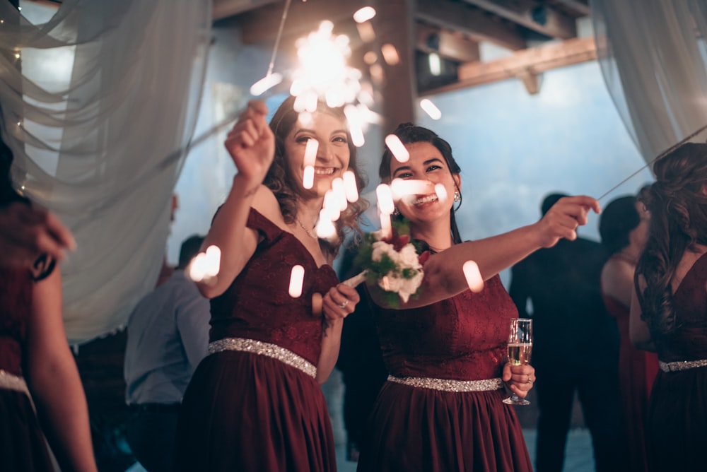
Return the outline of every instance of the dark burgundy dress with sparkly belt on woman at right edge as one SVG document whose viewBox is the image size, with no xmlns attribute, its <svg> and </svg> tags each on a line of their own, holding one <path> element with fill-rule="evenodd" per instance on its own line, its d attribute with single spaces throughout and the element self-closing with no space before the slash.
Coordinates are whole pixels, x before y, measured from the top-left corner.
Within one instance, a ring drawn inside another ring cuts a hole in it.
<svg viewBox="0 0 707 472">
<path fill-rule="evenodd" d="M 650 393 L 646 442 L 651 471 L 705 469 L 707 446 L 707 254 L 698 259 L 673 296 L 677 327 L 651 331 L 661 365 Z M 685 370 L 682 361 L 702 367 Z"/>
</svg>

